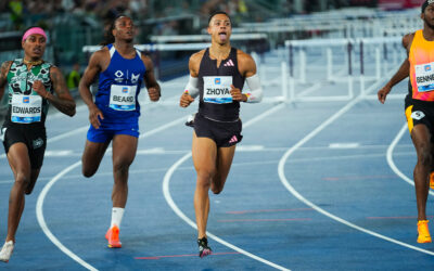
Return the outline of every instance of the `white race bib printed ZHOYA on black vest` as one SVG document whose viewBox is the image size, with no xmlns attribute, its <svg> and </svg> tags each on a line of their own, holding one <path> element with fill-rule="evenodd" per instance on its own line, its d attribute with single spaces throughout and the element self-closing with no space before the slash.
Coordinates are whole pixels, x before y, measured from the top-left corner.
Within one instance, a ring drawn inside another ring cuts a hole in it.
<svg viewBox="0 0 434 271">
<path fill-rule="evenodd" d="M 232 103 L 230 94 L 232 76 L 204 76 L 205 103 Z"/>
</svg>

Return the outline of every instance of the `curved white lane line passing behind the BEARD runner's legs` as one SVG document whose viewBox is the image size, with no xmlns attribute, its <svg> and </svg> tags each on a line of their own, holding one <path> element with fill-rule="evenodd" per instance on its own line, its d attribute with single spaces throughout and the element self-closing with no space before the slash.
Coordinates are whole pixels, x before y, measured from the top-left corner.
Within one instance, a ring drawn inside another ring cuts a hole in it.
<svg viewBox="0 0 434 271">
<path fill-rule="evenodd" d="M 165 129 L 168 129 L 173 126 L 182 124 L 183 121 L 186 121 L 187 116 L 183 116 L 181 118 L 175 119 L 164 126 L 161 126 L 158 128 L 155 128 L 149 132 L 145 132 L 143 134 L 141 134 L 139 137 L 139 139 L 143 139 L 146 137 L 150 137 L 152 134 L 155 134 L 157 132 L 161 132 Z M 107 150 L 110 151 L 111 147 Z M 79 258 L 77 255 L 75 255 L 73 251 L 71 251 L 69 249 L 67 249 L 55 236 L 54 234 L 50 231 L 50 229 L 48 228 L 47 223 L 46 223 L 46 219 L 43 218 L 43 202 L 46 199 L 46 196 L 48 194 L 48 192 L 50 191 L 50 189 L 54 185 L 55 182 L 58 182 L 64 175 L 66 175 L 67 172 L 69 172 L 71 170 L 75 169 L 76 167 L 81 165 L 81 160 L 76 162 L 75 164 L 71 165 L 69 167 L 65 168 L 64 170 L 62 170 L 60 173 L 58 173 L 56 176 L 53 177 L 53 179 L 51 179 L 42 189 L 41 193 L 38 196 L 38 201 L 36 203 L 36 217 L 38 219 L 38 223 L 40 225 L 40 228 L 42 229 L 43 233 L 47 235 L 47 237 L 59 248 L 61 249 L 66 256 L 68 256 L 69 258 L 72 258 L 73 260 L 77 261 L 79 264 L 81 264 L 84 268 L 88 269 L 88 270 L 97 270 L 94 267 L 92 267 L 91 264 L 89 264 L 88 262 L 84 261 L 81 258 Z"/>
</svg>

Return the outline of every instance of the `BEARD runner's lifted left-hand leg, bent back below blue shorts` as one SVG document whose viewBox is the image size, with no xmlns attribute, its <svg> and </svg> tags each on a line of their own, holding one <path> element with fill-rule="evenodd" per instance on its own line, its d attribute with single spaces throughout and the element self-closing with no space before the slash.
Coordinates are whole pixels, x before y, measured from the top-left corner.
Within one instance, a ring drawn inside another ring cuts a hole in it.
<svg viewBox="0 0 434 271">
<path fill-rule="evenodd" d="M 108 144 L 110 140 L 102 143 L 86 140 L 85 151 L 81 156 L 81 171 L 85 177 L 92 177 L 97 172 Z"/>
</svg>

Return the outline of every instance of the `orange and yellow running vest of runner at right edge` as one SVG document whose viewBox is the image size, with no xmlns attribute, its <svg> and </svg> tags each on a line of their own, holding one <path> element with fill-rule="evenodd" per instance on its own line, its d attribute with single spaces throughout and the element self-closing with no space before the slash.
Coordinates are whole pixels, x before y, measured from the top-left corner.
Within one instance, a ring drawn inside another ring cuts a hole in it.
<svg viewBox="0 0 434 271">
<path fill-rule="evenodd" d="M 417 30 L 411 43 L 409 95 L 414 100 L 434 101 L 434 41 L 423 38 Z"/>
</svg>

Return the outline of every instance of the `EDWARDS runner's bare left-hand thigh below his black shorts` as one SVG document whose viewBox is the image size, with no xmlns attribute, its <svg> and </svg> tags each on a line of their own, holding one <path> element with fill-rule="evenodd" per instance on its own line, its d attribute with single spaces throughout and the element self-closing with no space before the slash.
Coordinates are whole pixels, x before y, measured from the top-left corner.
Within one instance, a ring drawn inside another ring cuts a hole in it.
<svg viewBox="0 0 434 271">
<path fill-rule="evenodd" d="M 26 144 L 23 142 L 12 144 L 8 151 L 8 162 L 15 177 L 17 173 L 23 173 L 26 178 L 30 178 L 30 157 Z"/>
</svg>

